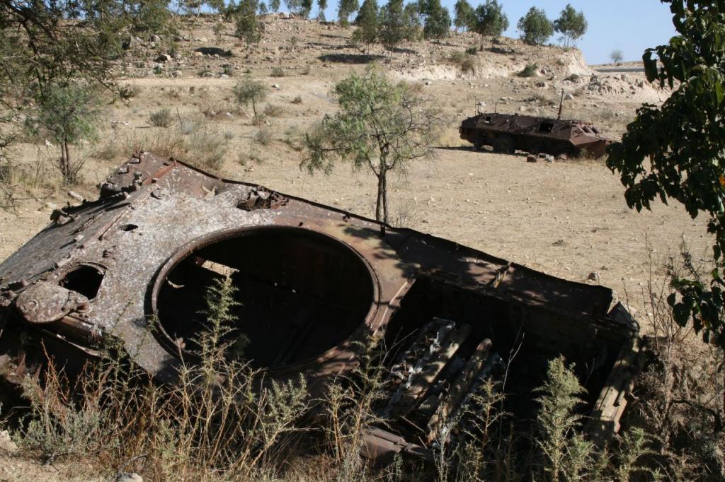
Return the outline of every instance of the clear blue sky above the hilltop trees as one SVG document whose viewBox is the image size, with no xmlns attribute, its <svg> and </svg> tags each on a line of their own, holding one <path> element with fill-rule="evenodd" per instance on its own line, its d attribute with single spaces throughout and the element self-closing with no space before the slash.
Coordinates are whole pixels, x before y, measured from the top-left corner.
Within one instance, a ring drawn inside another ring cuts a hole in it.
<svg viewBox="0 0 725 482">
<path fill-rule="evenodd" d="M 474 8 L 484 3 L 484 0 L 468 1 Z M 453 17 L 456 0 L 441 2 Z M 378 0 L 378 6 L 385 3 L 386 0 Z M 518 19 L 532 6 L 544 9 L 550 20 L 558 18 L 566 4 L 583 11 L 589 30 L 577 46 L 584 52 L 589 64 L 610 62 L 609 55 L 617 48 L 624 53 L 625 61 L 641 60 L 645 48 L 667 43 L 676 34 L 669 5 L 660 0 L 500 0 L 500 3 L 510 24 L 504 35 L 513 38 L 519 37 L 516 31 Z M 337 18 L 337 1 L 328 0 L 328 5 L 326 17 L 334 20 Z M 312 14 L 315 12 L 316 9 L 312 9 Z M 556 43 L 557 35 L 551 41 Z"/>
</svg>

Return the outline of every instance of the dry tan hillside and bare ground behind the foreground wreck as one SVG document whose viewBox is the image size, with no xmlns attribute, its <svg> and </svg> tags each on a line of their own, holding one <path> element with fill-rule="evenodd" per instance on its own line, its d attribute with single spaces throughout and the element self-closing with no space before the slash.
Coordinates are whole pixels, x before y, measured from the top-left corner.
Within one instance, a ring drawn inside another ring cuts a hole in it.
<svg viewBox="0 0 725 482">
<path fill-rule="evenodd" d="M 197 130 L 226 133 L 221 168 L 226 177 L 370 216 L 375 189 L 370 177 L 351 176 L 348 166 L 340 166 L 330 179 L 310 177 L 299 169 L 303 153 L 287 141 L 334 112 L 331 89 L 336 81 L 373 59 L 394 77 L 418 72 L 420 80 L 412 81 L 415 89 L 434 101 L 447 119 L 436 159 L 410 166 L 394 188 L 393 208 L 405 224 L 575 281 L 598 271 L 601 283 L 622 297 L 649 276 L 645 237 L 657 250 L 655 257 L 676 250 L 682 235 L 696 253 L 705 253 L 709 240 L 704 219 L 693 221 L 676 206 L 658 205 L 653 213 L 629 211 L 618 179 L 602 161 L 527 164 L 521 156 L 474 153 L 457 138 L 460 120 L 473 114 L 480 101 L 487 109 L 497 105 L 498 111 L 555 115 L 561 88 L 573 95 L 565 103 L 564 117 L 592 120 L 618 137 L 642 101 L 666 97 L 644 85 L 641 75 L 592 75 L 579 51 L 525 46 L 510 39 L 496 45 L 484 42 L 476 69 L 465 73 L 447 58 L 479 44 L 481 39 L 473 34 L 453 35 L 441 43 L 414 43 L 390 54 L 377 46 L 349 46 L 352 30 L 336 25 L 278 17 L 265 22 L 262 42 L 247 50 L 229 35 L 232 25 L 222 24 L 225 33 L 215 38 L 215 21 L 202 17 L 173 41 L 178 58 L 168 62 L 154 62 L 167 46 L 139 39 L 135 59 L 118 67 L 124 75 L 121 82 L 136 96 L 128 106 L 110 108 L 99 144 L 83 148 L 86 186 L 78 190 L 93 197 L 94 184 L 134 147 L 166 148 L 165 143 L 182 138 L 176 119 L 167 128 L 149 125 L 150 113 L 170 107 L 174 117 L 202 126 Z M 199 47 L 231 50 L 231 56 L 194 54 Z M 487 50 L 492 47 L 513 53 Z M 539 65 L 538 77 L 510 74 L 527 63 Z M 230 77 L 223 75 L 225 66 Z M 154 74 L 154 67 L 160 73 Z M 283 68 L 285 76 L 270 77 L 273 67 Z M 276 85 L 268 98 L 276 112 L 267 126 L 252 125 L 251 109 L 239 111 L 233 105 L 231 88 L 247 69 L 270 87 Z M 426 69 L 427 76 L 421 74 Z M 200 77 L 200 72 L 213 77 Z M 566 80 L 574 72 L 586 75 Z M 293 102 L 297 97 L 301 103 Z M 270 137 L 266 145 L 258 140 L 260 130 Z M 192 145 L 187 156 L 193 151 Z M 36 148 L 21 146 L 18 157 L 33 164 Z M 46 224 L 51 211 L 46 203 L 66 202 L 67 189 L 54 187 L 46 178 L 40 184 L 46 189 L 31 190 L 34 198 L 22 203 L 17 215 L 0 213 L 0 259 Z M 54 198 L 40 198 L 49 192 Z M 637 299 L 630 303 L 643 307 Z"/>
</svg>

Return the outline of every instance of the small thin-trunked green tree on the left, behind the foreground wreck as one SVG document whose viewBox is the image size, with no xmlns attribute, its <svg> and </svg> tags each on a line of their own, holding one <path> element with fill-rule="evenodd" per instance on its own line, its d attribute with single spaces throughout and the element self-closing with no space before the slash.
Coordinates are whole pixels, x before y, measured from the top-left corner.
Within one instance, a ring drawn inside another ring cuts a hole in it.
<svg viewBox="0 0 725 482">
<path fill-rule="evenodd" d="M 33 135 L 47 135 L 60 151 L 58 169 L 65 184 L 78 182 L 83 163 L 71 156 L 70 146 L 81 140 L 95 140 L 99 101 L 92 91 L 75 84 L 54 85 L 27 117 L 25 125 Z"/>
</svg>

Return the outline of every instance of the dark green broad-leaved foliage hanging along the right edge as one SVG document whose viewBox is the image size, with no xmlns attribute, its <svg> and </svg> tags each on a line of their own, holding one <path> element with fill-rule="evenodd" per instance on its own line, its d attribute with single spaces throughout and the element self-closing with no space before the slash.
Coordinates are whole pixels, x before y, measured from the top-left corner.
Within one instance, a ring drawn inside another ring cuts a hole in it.
<svg viewBox="0 0 725 482">
<path fill-rule="evenodd" d="M 676 88 L 661 106 L 645 104 L 610 148 L 607 165 L 621 176 L 630 208 L 676 200 L 692 218 L 710 216 L 715 235 L 711 279 L 676 278 L 668 298 L 676 321 L 692 319 L 707 342 L 725 347 L 725 4 L 721 0 L 663 0 L 679 35 L 648 48 L 650 82 Z M 658 60 L 661 68 L 658 69 Z"/>
</svg>

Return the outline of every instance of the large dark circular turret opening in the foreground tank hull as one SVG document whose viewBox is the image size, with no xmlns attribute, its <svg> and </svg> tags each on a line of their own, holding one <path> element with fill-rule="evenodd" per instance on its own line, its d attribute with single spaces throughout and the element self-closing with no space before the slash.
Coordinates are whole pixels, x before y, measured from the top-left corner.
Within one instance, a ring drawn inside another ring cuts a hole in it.
<svg viewBox="0 0 725 482">
<path fill-rule="evenodd" d="M 154 287 L 153 308 L 174 352 L 194 355 L 208 326 L 204 295 L 226 276 L 239 303 L 231 337 L 248 339 L 239 346 L 254 368 L 317 358 L 365 322 L 375 297 L 363 258 L 325 234 L 287 227 L 223 234 L 175 258 Z"/>
</svg>

